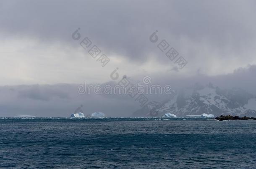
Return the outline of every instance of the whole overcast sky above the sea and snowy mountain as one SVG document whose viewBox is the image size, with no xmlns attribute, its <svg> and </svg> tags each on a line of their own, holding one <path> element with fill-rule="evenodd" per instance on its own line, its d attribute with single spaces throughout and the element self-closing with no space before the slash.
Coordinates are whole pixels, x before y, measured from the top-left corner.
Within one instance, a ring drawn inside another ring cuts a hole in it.
<svg viewBox="0 0 256 169">
<path fill-rule="evenodd" d="M 84 81 L 112 83 L 116 68 L 121 77 L 149 76 L 174 91 L 212 82 L 256 94 L 255 9 L 253 0 L 1 0 L 0 116 L 69 116 L 80 104 L 125 116 L 139 108 L 131 98 L 76 90 Z M 91 45 L 83 48 L 86 37 Z M 94 45 L 97 58 L 89 54 Z M 183 68 L 166 56 L 170 48 L 185 59 Z M 105 66 L 97 61 L 102 54 Z"/>
</svg>

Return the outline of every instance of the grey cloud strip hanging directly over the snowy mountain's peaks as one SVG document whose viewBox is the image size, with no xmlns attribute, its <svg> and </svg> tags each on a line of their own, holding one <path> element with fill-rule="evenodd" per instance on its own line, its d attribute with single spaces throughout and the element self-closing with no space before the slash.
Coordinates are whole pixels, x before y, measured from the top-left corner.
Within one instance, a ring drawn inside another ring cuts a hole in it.
<svg viewBox="0 0 256 169">
<path fill-rule="evenodd" d="M 193 86 L 196 83 L 206 85 L 212 83 L 214 86 L 221 88 L 241 88 L 246 90 L 248 93 L 256 95 L 256 65 L 248 65 L 244 68 L 237 68 L 233 73 L 218 76 L 207 76 L 204 74 L 198 74 L 192 77 L 180 77 L 178 75 L 167 77 L 167 76 L 155 76 L 154 83 L 161 85 L 170 84 L 172 89 L 180 90 L 180 88 Z"/>
</svg>

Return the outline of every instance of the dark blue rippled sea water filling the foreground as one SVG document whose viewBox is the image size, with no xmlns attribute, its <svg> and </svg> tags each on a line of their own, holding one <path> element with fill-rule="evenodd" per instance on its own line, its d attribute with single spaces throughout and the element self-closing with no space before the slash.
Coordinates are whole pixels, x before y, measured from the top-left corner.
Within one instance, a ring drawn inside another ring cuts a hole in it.
<svg viewBox="0 0 256 169">
<path fill-rule="evenodd" d="M 256 121 L 0 118 L 2 168 L 256 168 Z"/>
</svg>

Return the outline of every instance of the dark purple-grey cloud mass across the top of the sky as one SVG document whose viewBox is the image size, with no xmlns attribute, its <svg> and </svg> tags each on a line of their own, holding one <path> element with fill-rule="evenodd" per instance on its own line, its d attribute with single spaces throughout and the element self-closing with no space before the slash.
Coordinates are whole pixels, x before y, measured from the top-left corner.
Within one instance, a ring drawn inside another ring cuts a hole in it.
<svg viewBox="0 0 256 169">
<path fill-rule="evenodd" d="M 81 35 L 91 38 L 105 53 L 136 61 L 145 61 L 149 53 L 159 54 L 149 42 L 155 30 L 181 54 L 186 50 L 182 38 L 209 43 L 225 57 L 251 48 L 255 39 L 256 3 L 250 0 L 7 0 L 0 5 L 0 31 L 6 36 L 71 44 L 71 33 L 80 27 Z M 190 51 L 187 57 L 196 55 Z"/>
</svg>

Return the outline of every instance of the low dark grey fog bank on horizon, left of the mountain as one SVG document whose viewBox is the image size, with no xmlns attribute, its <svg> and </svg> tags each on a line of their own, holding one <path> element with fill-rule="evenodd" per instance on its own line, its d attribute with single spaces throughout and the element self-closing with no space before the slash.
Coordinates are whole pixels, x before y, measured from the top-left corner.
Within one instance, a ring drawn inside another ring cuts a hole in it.
<svg viewBox="0 0 256 169">
<path fill-rule="evenodd" d="M 93 92 L 78 94 L 77 86 L 75 84 L 38 85 L 36 87 L 35 85 L 0 86 L 2 96 L 0 97 L 0 116 L 26 114 L 39 117 L 63 117 L 73 114 L 80 105 L 83 105 L 82 110 L 85 115 L 100 111 L 107 116 L 130 116 L 130 112 L 140 108 L 128 96 L 106 97 Z M 63 98 L 63 95 L 68 98 Z"/>
</svg>

